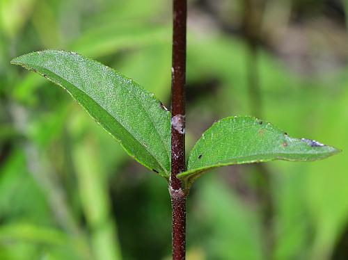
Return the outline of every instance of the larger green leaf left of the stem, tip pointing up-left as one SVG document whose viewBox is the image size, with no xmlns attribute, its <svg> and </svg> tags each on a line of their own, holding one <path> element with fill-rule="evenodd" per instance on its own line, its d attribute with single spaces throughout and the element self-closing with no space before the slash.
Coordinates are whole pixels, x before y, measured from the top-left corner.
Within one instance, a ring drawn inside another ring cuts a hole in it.
<svg viewBox="0 0 348 260">
<path fill-rule="evenodd" d="M 171 115 L 154 95 L 110 67 L 66 51 L 38 51 L 11 61 L 67 90 L 128 154 L 170 174 Z"/>
</svg>

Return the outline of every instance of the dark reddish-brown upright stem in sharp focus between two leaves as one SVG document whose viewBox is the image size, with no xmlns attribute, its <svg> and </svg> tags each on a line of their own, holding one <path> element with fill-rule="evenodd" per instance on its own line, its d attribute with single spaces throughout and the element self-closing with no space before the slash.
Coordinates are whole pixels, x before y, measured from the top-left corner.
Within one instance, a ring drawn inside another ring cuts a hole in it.
<svg viewBox="0 0 348 260">
<path fill-rule="evenodd" d="M 171 89 L 171 180 L 173 259 L 185 259 L 186 194 L 176 175 L 185 170 L 185 99 L 187 0 L 173 0 Z"/>
</svg>

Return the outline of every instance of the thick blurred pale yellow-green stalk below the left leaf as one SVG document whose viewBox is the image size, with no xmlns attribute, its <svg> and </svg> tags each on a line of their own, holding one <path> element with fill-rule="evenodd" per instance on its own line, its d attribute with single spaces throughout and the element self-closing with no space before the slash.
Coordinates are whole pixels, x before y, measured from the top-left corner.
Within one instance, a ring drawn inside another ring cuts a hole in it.
<svg viewBox="0 0 348 260">
<path fill-rule="evenodd" d="M 105 174 L 100 172 L 102 167 L 99 165 L 97 147 L 93 142 L 88 143 L 88 140 L 74 145 L 72 154 L 76 162 L 78 190 L 90 232 L 90 244 L 95 260 L 119 260 L 122 259 L 120 243 L 116 223 L 111 218 Z"/>
</svg>

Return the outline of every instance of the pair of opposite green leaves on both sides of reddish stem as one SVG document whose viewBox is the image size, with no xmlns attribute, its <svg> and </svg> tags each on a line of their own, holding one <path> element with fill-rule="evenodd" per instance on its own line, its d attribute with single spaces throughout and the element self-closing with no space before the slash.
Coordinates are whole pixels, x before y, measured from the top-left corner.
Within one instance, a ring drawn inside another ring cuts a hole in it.
<svg viewBox="0 0 348 260">
<path fill-rule="evenodd" d="M 171 113 L 153 94 L 115 70 L 66 51 L 38 51 L 12 60 L 67 90 L 86 111 L 145 167 L 171 176 Z M 290 138 L 255 117 L 227 117 L 214 123 L 177 175 L 189 188 L 206 170 L 276 159 L 314 161 L 338 149 L 314 140 Z"/>
</svg>

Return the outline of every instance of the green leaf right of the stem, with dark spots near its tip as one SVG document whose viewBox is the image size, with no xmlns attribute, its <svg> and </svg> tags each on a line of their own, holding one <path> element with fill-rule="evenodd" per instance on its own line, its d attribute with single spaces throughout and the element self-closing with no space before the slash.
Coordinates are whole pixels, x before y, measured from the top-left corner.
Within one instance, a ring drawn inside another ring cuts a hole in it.
<svg viewBox="0 0 348 260">
<path fill-rule="evenodd" d="M 338 152 L 315 140 L 291 138 L 255 117 L 226 117 L 203 133 L 189 154 L 187 171 L 177 177 L 189 187 L 202 172 L 216 167 L 272 160 L 315 161 Z"/>
</svg>

